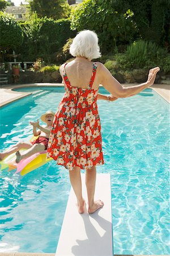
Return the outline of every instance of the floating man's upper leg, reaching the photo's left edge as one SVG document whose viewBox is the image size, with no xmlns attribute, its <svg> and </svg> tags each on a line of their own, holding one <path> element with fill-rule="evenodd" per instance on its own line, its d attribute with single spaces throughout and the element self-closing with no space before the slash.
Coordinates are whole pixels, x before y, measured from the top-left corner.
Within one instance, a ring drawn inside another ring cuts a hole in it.
<svg viewBox="0 0 170 256">
<path fill-rule="evenodd" d="M 3 158 L 6 158 L 6 156 L 11 155 L 12 153 L 16 152 L 17 150 L 20 150 L 21 148 L 31 148 L 32 144 L 31 142 L 18 142 L 15 145 L 11 146 L 7 150 L 0 153 L 0 160 Z"/>
</svg>

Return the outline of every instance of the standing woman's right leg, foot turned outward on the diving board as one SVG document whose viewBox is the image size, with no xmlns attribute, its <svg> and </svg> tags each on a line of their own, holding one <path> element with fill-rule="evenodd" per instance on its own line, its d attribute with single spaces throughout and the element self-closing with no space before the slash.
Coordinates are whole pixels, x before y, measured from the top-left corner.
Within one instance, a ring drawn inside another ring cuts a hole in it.
<svg viewBox="0 0 170 256">
<path fill-rule="evenodd" d="M 88 196 L 88 213 L 94 213 L 97 209 L 103 207 L 101 200 L 94 201 L 96 186 L 96 166 L 86 170 L 86 188 Z"/>
</svg>

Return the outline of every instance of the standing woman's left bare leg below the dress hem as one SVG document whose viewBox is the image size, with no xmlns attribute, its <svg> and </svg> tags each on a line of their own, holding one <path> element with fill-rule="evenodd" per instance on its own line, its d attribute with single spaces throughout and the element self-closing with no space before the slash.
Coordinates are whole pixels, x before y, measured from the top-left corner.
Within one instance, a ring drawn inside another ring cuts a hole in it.
<svg viewBox="0 0 170 256">
<path fill-rule="evenodd" d="M 84 213 L 85 201 L 82 196 L 82 179 L 80 175 L 80 167 L 74 167 L 72 171 L 69 171 L 69 175 L 70 182 L 77 200 L 78 212 Z"/>
</svg>

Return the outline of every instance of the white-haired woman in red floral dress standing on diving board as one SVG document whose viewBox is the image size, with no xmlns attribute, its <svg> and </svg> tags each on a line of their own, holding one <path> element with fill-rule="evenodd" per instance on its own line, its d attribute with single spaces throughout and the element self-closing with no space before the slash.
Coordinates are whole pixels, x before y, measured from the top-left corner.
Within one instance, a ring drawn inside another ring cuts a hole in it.
<svg viewBox="0 0 170 256">
<path fill-rule="evenodd" d="M 80 169 L 86 169 L 88 213 L 94 213 L 104 205 L 103 201 L 94 200 L 96 166 L 104 164 L 97 95 L 99 99 L 106 96 L 98 94 L 99 85 L 112 94 L 111 98 L 130 97 L 154 84 L 159 67 L 150 70 L 147 82 L 126 88 L 102 63 L 91 61 L 101 56 L 95 32 L 79 32 L 70 53 L 75 59 L 60 68 L 65 94 L 54 117 L 48 157 L 69 170 L 79 213 L 83 213 L 85 207 Z"/>
</svg>

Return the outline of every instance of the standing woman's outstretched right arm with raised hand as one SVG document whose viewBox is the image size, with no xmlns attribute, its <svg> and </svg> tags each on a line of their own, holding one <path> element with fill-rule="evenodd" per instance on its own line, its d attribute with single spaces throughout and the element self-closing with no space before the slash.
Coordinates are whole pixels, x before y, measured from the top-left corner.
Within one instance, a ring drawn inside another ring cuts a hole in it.
<svg viewBox="0 0 170 256">
<path fill-rule="evenodd" d="M 126 98 L 138 94 L 148 86 L 154 84 L 156 73 L 158 73 L 159 70 L 159 67 L 150 69 L 147 82 L 140 85 L 125 87 L 112 76 L 111 72 L 109 72 L 102 63 L 100 63 L 100 79 L 104 88 L 114 97 Z"/>
</svg>

